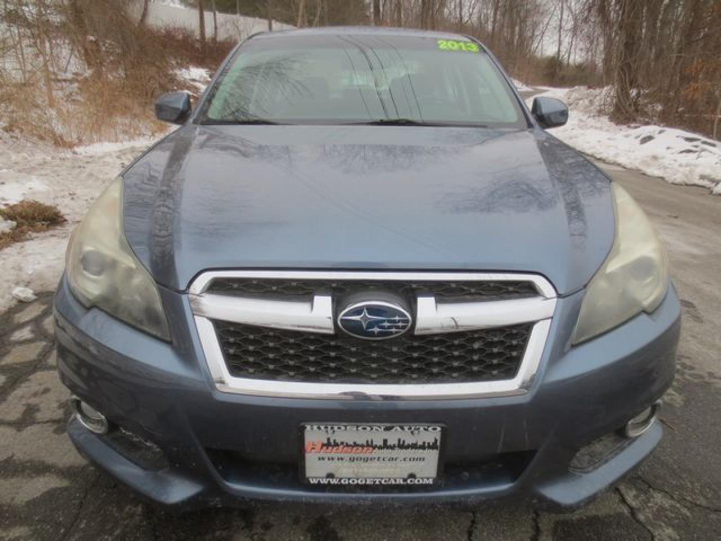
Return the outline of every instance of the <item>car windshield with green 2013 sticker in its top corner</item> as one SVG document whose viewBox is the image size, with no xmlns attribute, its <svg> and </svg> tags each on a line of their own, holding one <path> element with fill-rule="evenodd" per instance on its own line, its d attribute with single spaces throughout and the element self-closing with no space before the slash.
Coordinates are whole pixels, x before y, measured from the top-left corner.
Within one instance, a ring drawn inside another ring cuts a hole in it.
<svg viewBox="0 0 721 541">
<path fill-rule="evenodd" d="M 479 45 L 391 35 L 253 38 L 226 65 L 200 121 L 527 127 Z"/>
</svg>

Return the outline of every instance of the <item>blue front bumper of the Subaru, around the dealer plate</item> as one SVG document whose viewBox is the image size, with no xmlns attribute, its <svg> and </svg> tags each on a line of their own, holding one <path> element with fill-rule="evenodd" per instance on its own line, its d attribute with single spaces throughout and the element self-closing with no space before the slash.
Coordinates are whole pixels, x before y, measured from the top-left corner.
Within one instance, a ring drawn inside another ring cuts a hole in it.
<svg viewBox="0 0 721 541">
<path fill-rule="evenodd" d="M 673 287 L 653 315 L 570 348 L 581 294 L 559 299 L 531 390 L 462 400 L 312 400 L 218 392 L 203 360 L 187 296 L 161 289 L 172 345 L 97 309 L 63 278 L 55 301 L 58 369 L 75 395 L 162 454 L 149 465 L 116 436 L 76 419 L 68 434 L 87 458 L 151 501 L 179 508 L 244 499 L 303 502 L 474 503 L 524 493 L 578 506 L 658 444 L 658 423 L 583 470 L 580 449 L 614 433 L 671 385 L 680 330 Z M 394 492 L 309 487 L 298 478 L 305 422 L 442 423 L 443 485 Z"/>
</svg>

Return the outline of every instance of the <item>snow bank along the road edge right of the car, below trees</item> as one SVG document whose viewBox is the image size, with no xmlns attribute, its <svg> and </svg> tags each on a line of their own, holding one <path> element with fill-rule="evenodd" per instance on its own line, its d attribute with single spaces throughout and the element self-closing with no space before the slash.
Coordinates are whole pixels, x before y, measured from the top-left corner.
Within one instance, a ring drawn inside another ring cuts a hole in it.
<svg viewBox="0 0 721 541">
<path fill-rule="evenodd" d="M 541 96 L 568 105 L 566 126 L 550 133 L 604 162 L 662 177 L 673 184 L 711 188 L 721 195 L 721 143 L 697 133 L 663 126 L 622 126 L 599 112 L 610 89 L 548 89 Z M 529 105 L 533 98 L 528 100 Z"/>
</svg>

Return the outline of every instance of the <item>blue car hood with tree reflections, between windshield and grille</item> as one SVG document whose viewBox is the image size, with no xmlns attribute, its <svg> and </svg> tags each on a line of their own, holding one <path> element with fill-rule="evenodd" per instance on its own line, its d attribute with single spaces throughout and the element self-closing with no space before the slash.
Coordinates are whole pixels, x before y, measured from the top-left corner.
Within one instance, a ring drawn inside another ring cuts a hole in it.
<svg viewBox="0 0 721 541">
<path fill-rule="evenodd" d="M 179 128 L 123 174 L 158 283 L 219 268 L 523 271 L 559 294 L 614 237 L 609 179 L 539 129 Z"/>
</svg>

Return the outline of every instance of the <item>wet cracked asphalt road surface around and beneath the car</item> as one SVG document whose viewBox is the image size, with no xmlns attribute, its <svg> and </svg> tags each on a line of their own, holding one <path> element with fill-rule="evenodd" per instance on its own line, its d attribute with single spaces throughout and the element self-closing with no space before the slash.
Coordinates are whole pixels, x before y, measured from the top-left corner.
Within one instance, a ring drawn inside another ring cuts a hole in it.
<svg viewBox="0 0 721 541">
<path fill-rule="evenodd" d="M 0 539 L 716 540 L 721 538 L 721 198 L 603 165 L 665 238 L 684 309 L 665 438 L 616 488 L 572 514 L 520 501 L 454 508 L 249 506 L 167 514 L 87 464 L 65 435 L 51 294 L 0 315 Z"/>
</svg>

